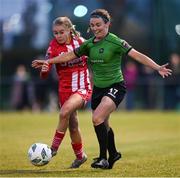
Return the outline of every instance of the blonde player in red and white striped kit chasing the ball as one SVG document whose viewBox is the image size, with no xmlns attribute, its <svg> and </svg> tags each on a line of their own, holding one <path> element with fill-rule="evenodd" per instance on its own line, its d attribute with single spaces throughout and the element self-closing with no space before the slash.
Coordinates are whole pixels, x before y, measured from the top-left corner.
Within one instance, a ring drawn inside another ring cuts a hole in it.
<svg viewBox="0 0 180 178">
<path fill-rule="evenodd" d="M 50 42 L 46 59 L 73 51 L 84 41 L 68 17 L 56 18 L 53 22 L 52 30 L 54 39 Z M 77 117 L 77 109 L 82 108 L 86 104 L 92 93 L 86 60 L 87 57 L 82 56 L 69 62 L 56 64 L 56 71 L 59 77 L 58 93 L 61 109 L 51 146 L 52 156 L 56 155 L 69 127 L 71 144 L 76 155 L 71 168 L 78 168 L 87 160 L 87 156 L 83 151 Z M 48 63 L 44 63 L 40 72 L 42 79 L 48 76 L 51 67 Z"/>
</svg>

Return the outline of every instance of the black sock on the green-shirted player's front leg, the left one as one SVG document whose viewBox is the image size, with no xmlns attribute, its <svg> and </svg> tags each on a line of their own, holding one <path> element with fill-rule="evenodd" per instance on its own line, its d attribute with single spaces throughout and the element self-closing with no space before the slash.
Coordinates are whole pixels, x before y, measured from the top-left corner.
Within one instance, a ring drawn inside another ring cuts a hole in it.
<svg viewBox="0 0 180 178">
<path fill-rule="evenodd" d="M 107 159 L 107 145 L 108 145 L 108 133 L 104 122 L 100 125 L 94 126 L 96 136 L 99 142 L 100 158 Z"/>
</svg>

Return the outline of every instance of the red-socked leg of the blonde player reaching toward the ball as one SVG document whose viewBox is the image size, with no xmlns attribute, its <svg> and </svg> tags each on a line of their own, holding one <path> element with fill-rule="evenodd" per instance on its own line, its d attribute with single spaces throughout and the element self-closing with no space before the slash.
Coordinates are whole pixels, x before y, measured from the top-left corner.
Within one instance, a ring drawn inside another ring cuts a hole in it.
<svg viewBox="0 0 180 178">
<path fill-rule="evenodd" d="M 66 99 L 66 100 L 65 100 Z M 68 128 L 69 124 L 69 118 L 71 114 L 77 109 L 82 107 L 83 99 L 80 95 L 74 94 L 73 96 L 70 96 L 69 98 L 65 98 L 64 103 L 63 100 L 61 103 L 63 103 L 60 114 L 59 114 L 59 121 L 57 125 L 57 129 L 53 138 L 52 142 L 52 155 L 56 155 L 57 150 L 64 138 L 64 135 L 66 133 L 66 130 Z"/>
</svg>

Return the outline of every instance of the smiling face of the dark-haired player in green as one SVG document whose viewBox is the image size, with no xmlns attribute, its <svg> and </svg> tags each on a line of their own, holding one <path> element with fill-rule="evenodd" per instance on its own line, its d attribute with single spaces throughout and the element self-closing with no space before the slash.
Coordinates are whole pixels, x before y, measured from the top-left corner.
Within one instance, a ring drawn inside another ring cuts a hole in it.
<svg viewBox="0 0 180 178">
<path fill-rule="evenodd" d="M 102 18 L 91 18 L 90 19 L 90 29 L 94 33 L 96 39 L 101 40 L 104 38 L 109 31 L 110 23 L 105 23 Z"/>
</svg>

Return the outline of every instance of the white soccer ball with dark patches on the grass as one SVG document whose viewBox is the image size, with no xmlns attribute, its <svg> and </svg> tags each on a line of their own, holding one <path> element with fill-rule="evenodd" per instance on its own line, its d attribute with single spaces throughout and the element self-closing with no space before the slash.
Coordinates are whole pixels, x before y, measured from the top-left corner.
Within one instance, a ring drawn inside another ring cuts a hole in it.
<svg viewBox="0 0 180 178">
<path fill-rule="evenodd" d="M 28 150 L 29 161 L 35 166 L 44 166 L 52 158 L 51 149 L 44 143 L 34 143 Z"/>
</svg>

